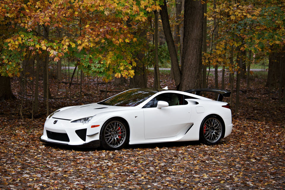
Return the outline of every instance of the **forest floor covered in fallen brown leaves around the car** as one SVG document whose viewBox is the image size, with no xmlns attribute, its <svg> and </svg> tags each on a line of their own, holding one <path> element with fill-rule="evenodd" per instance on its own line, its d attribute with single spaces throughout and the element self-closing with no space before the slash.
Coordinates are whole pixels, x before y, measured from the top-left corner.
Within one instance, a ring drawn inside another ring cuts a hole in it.
<svg viewBox="0 0 285 190">
<path fill-rule="evenodd" d="M 163 73 L 162 87 L 174 88 L 174 81 Z M 152 81 L 150 75 L 149 86 Z M 88 86 L 85 77 L 80 100 L 79 85 L 72 85 L 69 94 L 66 84 L 58 86 L 51 80 L 54 99 L 50 100 L 50 113 L 104 99 L 105 93 L 99 90 L 106 84 L 99 82 L 97 91 L 96 78 L 90 79 Z M 269 96 L 265 82 L 263 75 L 252 75 L 246 90 L 242 81 L 240 110 L 232 115 L 232 133 L 217 145 L 194 141 L 105 151 L 40 142 L 45 103 L 39 100 L 39 111 L 32 120 L 29 90 L 23 101 L 23 121 L 20 85 L 15 79 L 12 89 L 18 99 L 0 102 L 0 189 L 285 189 L 285 106 L 279 104 L 276 91 Z M 209 87 L 213 86 L 210 76 Z M 42 97 L 42 84 L 40 89 Z M 125 89 L 127 84 L 115 86 L 111 81 L 108 90 L 113 92 L 107 97 Z"/>
</svg>

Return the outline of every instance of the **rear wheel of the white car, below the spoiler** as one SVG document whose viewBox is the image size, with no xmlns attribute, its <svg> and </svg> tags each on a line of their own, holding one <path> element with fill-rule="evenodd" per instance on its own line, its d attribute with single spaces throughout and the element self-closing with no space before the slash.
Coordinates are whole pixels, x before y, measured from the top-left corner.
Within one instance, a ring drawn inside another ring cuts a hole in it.
<svg viewBox="0 0 285 190">
<path fill-rule="evenodd" d="M 216 115 L 207 116 L 200 126 L 200 141 L 206 145 L 217 144 L 222 137 L 223 126 Z"/>
</svg>

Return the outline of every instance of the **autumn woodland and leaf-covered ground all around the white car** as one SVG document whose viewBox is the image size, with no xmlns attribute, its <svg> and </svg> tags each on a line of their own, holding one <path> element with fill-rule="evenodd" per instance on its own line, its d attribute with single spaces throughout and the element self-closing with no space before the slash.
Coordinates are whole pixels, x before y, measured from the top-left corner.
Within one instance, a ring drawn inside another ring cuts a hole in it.
<svg viewBox="0 0 285 190">
<path fill-rule="evenodd" d="M 284 189 L 284 0 L 3 0 L 0 9 L 0 189 Z M 215 146 L 121 151 L 38 140 L 60 107 L 165 86 L 231 91 L 232 134 Z"/>
</svg>

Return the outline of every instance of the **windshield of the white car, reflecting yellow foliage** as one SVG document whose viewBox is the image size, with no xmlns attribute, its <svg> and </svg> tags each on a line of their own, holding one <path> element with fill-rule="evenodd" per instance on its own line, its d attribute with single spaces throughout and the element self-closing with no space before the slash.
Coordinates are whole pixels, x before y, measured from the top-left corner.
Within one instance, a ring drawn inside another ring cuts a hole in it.
<svg viewBox="0 0 285 190">
<path fill-rule="evenodd" d="M 137 106 L 158 91 L 150 88 L 138 88 L 125 91 L 117 94 L 98 104 L 110 106 Z"/>
</svg>

